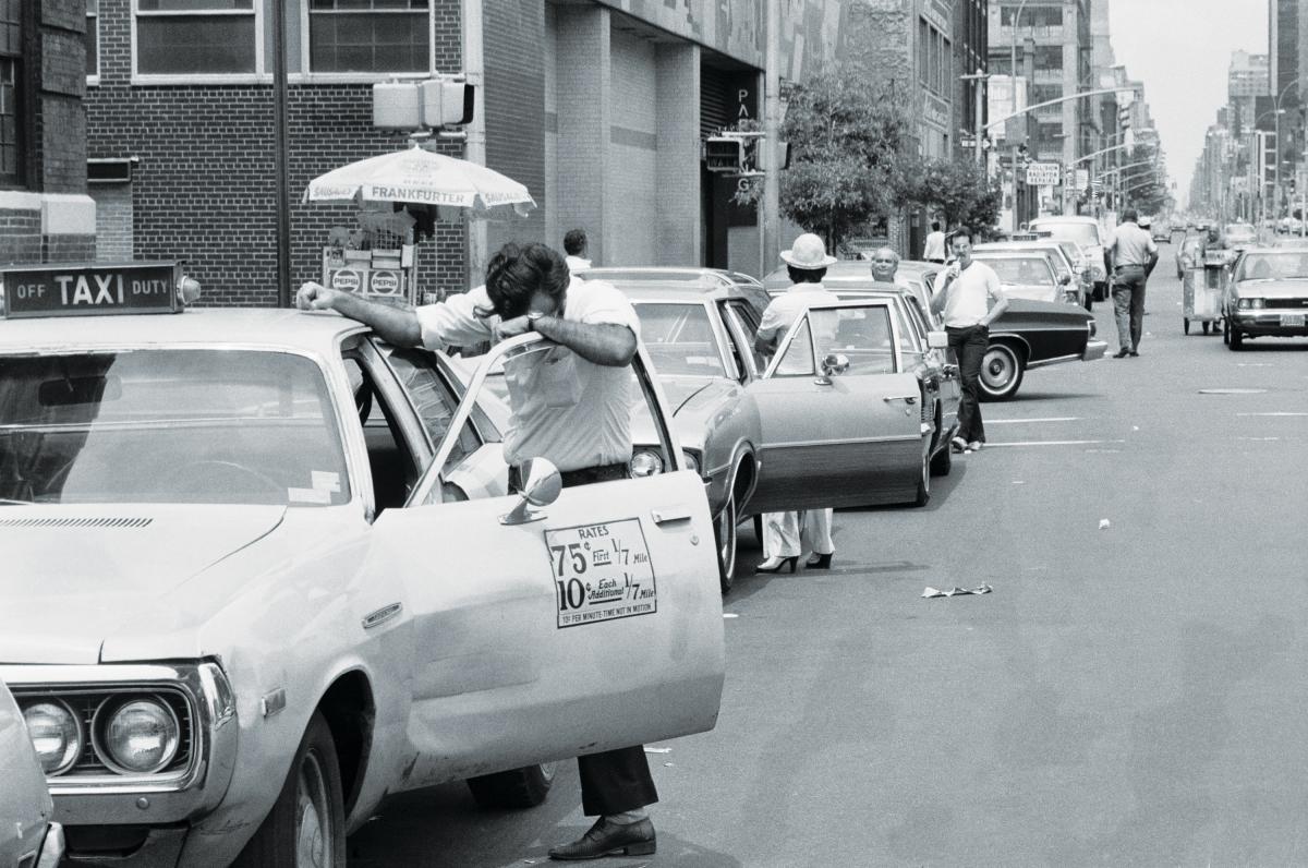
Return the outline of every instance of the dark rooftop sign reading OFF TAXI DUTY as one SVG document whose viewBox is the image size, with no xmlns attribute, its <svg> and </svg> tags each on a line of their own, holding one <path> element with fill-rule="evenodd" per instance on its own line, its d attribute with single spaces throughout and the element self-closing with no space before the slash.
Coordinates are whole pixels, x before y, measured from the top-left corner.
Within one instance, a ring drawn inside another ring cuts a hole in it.
<svg viewBox="0 0 1308 868">
<path fill-rule="evenodd" d="M 3 266 L 0 317 L 178 313 L 179 276 L 175 262 Z"/>
</svg>

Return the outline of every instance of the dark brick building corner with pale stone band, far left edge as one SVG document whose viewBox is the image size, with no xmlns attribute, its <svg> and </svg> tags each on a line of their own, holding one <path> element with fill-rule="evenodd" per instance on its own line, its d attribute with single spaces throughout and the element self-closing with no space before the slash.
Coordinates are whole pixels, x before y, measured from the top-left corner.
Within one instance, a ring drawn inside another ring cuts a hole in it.
<svg viewBox="0 0 1308 868">
<path fill-rule="evenodd" d="M 90 259 L 86 0 L 0 0 L 0 262 Z"/>
</svg>

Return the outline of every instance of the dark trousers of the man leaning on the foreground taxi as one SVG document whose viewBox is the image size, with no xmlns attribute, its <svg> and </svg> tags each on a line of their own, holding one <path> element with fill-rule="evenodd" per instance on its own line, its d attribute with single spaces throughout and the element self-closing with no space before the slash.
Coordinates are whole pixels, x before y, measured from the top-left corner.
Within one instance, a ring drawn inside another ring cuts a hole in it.
<svg viewBox="0 0 1308 868">
<path fill-rule="evenodd" d="M 560 475 L 564 488 L 572 488 L 625 479 L 628 471 L 627 465 L 606 465 L 568 470 Z M 509 467 L 509 486 L 514 491 L 521 488 L 518 467 Z M 658 801 L 644 745 L 577 757 L 577 772 L 581 778 L 581 809 L 589 817 L 620 814 Z"/>
</svg>

